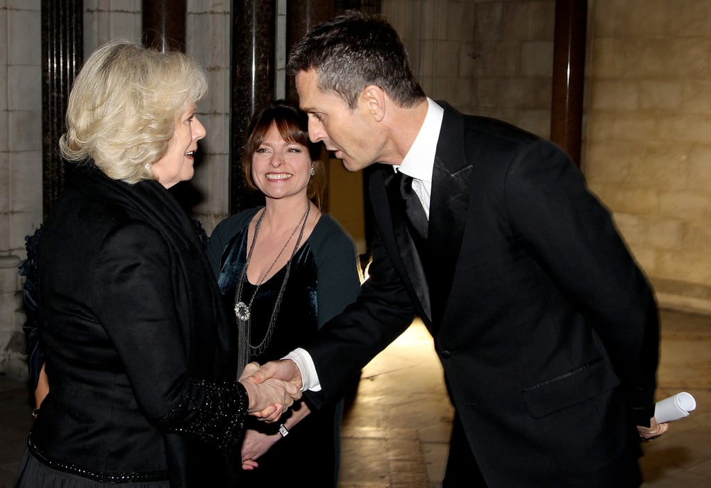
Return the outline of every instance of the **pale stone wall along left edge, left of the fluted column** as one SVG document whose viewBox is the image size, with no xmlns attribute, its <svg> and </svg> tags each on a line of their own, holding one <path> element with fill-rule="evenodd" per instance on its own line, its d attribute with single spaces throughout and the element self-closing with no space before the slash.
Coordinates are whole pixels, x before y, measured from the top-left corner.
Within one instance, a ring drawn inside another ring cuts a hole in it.
<svg viewBox="0 0 711 488">
<path fill-rule="evenodd" d="M 26 374 L 18 265 L 42 219 L 40 0 L 0 0 L 0 372 Z"/>
</svg>

